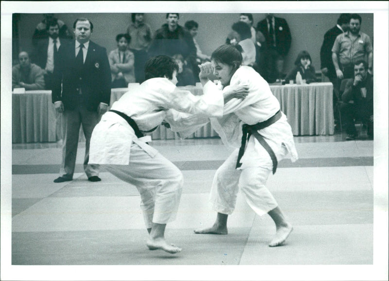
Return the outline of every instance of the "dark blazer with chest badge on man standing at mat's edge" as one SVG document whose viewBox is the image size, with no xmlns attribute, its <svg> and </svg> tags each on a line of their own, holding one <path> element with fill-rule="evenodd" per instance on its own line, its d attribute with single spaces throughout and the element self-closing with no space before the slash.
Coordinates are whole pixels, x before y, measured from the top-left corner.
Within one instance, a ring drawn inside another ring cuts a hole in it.
<svg viewBox="0 0 389 281">
<path fill-rule="evenodd" d="M 97 111 L 101 102 L 109 105 L 111 70 L 106 48 L 89 41 L 88 53 L 82 69 L 77 68 L 75 58 L 75 41 L 61 43 L 58 50 L 58 61 L 54 65 L 53 103 L 61 100 L 65 110 L 74 109 L 79 102 L 79 88 L 81 87 L 82 96 L 89 111 Z"/>
</svg>

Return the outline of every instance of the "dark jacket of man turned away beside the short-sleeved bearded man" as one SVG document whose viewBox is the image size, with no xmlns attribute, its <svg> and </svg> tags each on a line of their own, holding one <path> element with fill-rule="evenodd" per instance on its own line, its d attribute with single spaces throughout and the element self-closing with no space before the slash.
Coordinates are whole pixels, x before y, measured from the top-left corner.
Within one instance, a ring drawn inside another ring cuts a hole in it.
<svg viewBox="0 0 389 281">
<path fill-rule="evenodd" d="M 330 78 L 336 77 L 336 71 L 334 67 L 334 63 L 332 62 L 332 47 L 334 46 L 334 42 L 336 37 L 343 32 L 337 27 L 334 26 L 330 30 L 328 30 L 324 34 L 323 44 L 320 48 L 320 62 L 321 69 L 328 68 L 327 76 Z"/>
</svg>

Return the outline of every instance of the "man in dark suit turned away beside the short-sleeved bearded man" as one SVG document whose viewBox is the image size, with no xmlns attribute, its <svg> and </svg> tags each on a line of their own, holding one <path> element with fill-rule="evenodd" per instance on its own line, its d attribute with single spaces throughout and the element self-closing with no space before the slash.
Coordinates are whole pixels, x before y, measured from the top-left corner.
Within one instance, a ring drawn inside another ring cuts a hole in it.
<svg viewBox="0 0 389 281">
<path fill-rule="evenodd" d="M 346 32 L 350 24 L 350 14 L 340 14 L 336 26 L 324 34 L 323 44 L 320 48 L 321 72 L 326 75 L 335 86 L 337 85 L 336 71 L 332 62 L 332 47 L 339 34 Z"/>
</svg>

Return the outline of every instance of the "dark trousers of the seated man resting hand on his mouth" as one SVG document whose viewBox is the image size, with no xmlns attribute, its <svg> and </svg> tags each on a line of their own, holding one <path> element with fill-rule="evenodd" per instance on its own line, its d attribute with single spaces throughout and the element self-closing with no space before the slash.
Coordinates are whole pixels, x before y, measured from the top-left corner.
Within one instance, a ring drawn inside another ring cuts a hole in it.
<svg viewBox="0 0 389 281">
<path fill-rule="evenodd" d="M 340 106 L 342 122 L 347 134 L 357 135 L 354 119 L 361 120 L 368 124 L 368 135 L 373 136 L 373 122 L 370 121 L 370 116 L 373 114 L 368 107 L 356 106 L 351 103 L 342 103 Z"/>
</svg>

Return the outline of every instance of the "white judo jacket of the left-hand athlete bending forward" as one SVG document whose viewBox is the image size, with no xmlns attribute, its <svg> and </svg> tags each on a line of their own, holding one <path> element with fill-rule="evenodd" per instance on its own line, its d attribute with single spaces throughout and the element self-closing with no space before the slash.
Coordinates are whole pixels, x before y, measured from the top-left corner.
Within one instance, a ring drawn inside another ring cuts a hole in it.
<svg viewBox="0 0 389 281">
<path fill-rule="evenodd" d="M 140 131 L 158 127 L 169 109 L 202 117 L 221 117 L 224 98 L 221 91 L 195 96 L 178 89 L 166 78 L 152 78 L 132 88 L 111 109 L 131 117 Z M 128 165 L 132 143 L 138 144 L 151 156 L 158 151 L 147 145 L 150 136 L 138 139 L 131 126 L 118 114 L 106 112 L 93 130 L 90 140 L 89 163 Z"/>
</svg>

